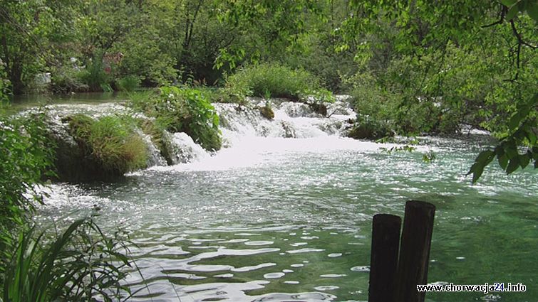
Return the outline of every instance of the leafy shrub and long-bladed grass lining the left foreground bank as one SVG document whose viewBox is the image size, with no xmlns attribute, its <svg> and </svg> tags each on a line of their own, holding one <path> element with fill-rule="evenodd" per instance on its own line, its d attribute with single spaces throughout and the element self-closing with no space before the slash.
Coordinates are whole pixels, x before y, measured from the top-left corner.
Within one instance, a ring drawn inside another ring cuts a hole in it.
<svg viewBox="0 0 538 302">
<path fill-rule="evenodd" d="M 92 217 L 58 234 L 31 222 L 37 185 L 53 176 L 46 131 L 43 114 L 0 119 L 0 301 L 112 301 L 129 292 L 122 234 L 103 234 Z"/>
</svg>

